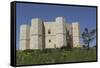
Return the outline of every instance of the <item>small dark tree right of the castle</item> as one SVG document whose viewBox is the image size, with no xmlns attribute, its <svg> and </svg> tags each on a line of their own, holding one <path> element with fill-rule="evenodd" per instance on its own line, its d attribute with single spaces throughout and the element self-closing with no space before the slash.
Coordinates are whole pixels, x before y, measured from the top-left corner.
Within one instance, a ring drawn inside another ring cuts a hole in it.
<svg viewBox="0 0 100 68">
<path fill-rule="evenodd" d="M 87 47 L 89 49 L 90 42 L 96 37 L 96 30 L 92 29 L 91 31 L 88 30 L 88 28 L 84 29 L 84 32 L 82 33 L 83 42 L 87 44 Z"/>
</svg>

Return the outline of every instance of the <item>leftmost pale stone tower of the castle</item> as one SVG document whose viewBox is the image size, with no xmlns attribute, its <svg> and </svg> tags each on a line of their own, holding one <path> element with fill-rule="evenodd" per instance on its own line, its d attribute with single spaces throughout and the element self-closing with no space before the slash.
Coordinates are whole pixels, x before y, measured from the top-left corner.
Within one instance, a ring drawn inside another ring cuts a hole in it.
<svg viewBox="0 0 100 68">
<path fill-rule="evenodd" d="M 30 43 L 30 26 L 24 24 L 20 26 L 20 50 L 29 49 Z"/>
</svg>

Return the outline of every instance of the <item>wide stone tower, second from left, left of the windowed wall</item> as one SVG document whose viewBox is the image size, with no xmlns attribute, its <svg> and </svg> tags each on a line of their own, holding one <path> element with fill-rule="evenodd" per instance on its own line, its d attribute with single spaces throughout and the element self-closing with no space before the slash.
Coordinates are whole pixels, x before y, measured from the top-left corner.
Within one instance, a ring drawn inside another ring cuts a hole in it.
<svg viewBox="0 0 100 68">
<path fill-rule="evenodd" d="M 43 48 L 43 23 L 42 20 L 34 18 L 31 20 L 30 49 Z"/>
</svg>

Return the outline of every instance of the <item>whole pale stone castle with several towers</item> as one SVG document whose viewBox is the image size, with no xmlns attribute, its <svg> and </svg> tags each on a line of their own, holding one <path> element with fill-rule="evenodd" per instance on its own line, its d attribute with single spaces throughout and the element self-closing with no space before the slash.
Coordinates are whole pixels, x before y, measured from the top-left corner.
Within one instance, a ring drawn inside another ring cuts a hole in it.
<svg viewBox="0 0 100 68">
<path fill-rule="evenodd" d="M 20 26 L 19 49 L 81 47 L 79 29 L 78 22 L 68 24 L 63 17 L 47 22 L 33 18 L 31 25 Z"/>
</svg>

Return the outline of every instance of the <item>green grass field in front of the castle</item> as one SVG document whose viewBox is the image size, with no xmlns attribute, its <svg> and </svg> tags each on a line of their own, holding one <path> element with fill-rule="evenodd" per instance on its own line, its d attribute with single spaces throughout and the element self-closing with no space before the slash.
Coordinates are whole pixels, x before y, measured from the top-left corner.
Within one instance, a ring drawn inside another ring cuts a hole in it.
<svg viewBox="0 0 100 68">
<path fill-rule="evenodd" d="M 46 49 L 16 51 L 17 65 L 95 61 L 96 49 Z"/>
</svg>

